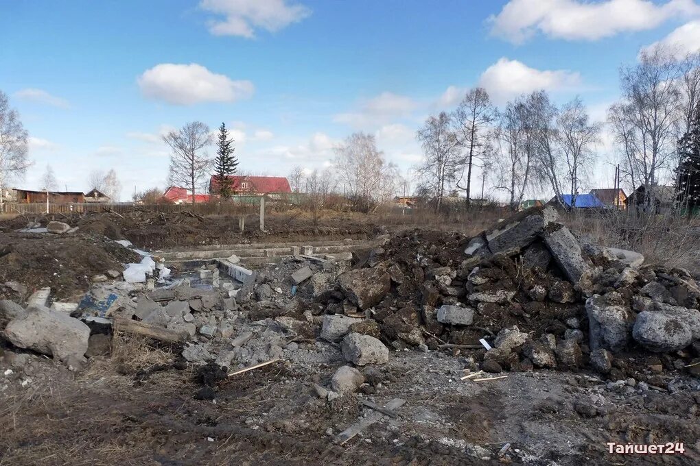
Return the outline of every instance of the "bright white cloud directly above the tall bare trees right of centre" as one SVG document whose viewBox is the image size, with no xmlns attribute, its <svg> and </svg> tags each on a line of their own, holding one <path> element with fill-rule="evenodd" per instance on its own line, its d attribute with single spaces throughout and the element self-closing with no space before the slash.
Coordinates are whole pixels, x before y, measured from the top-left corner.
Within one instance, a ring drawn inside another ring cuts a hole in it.
<svg viewBox="0 0 700 466">
<path fill-rule="evenodd" d="M 539 89 L 560 91 L 575 89 L 580 85 L 579 73 L 567 70 L 538 70 L 526 66 L 521 61 L 505 57 L 486 68 L 479 78 L 479 86 L 489 92 L 491 100 L 496 104 Z"/>
</svg>

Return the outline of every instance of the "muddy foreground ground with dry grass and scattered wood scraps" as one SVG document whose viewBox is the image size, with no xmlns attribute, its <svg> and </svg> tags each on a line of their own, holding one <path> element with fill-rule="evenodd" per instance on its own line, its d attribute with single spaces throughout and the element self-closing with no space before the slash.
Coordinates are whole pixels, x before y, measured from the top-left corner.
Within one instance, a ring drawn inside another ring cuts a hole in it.
<svg viewBox="0 0 700 466">
<path fill-rule="evenodd" d="M 371 395 L 402 398 L 343 445 L 333 435 L 372 415 L 351 395 L 325 402 L 311 382 L 328 384 L 342 365 L 328 346 L 311 363 L 309 346 L 288 362 L 216 384 L 216 402 L 197 400 L 195 372 L 171 366 L 169 353 L 125 367 L 143 347 L 94 358 L 83 374 L 29 356 L 25 370 L 1 376 L 0 464 L 697 464 L 700 397 L 608 385 L 594 374 L 537 371 L 493 381 L 460 381 L 461 358 L 398 351 L 374 370 Z M 17 356 L 6 352 L 1 370 Z M 158 363 L 160 366 L 155 366 Z M 139 367 L 165 367 L 148 374 Z M 365 369 L 367 372 L 367 369 Z M 28 381 L 27 381 L 28 380 Z M 25 386 L 22 383 L 25 382 Z M 684 442 L 684 455 L 616 456 L 606 442 Z M 510 449 L 498 456 L 504 444 Z M 477 447 L 472 447 L 476 445 Z M 465 448 L 466 447 L 466 448 Z M 468 453 L 465 453 L 468 452 Z"/>
</svg>

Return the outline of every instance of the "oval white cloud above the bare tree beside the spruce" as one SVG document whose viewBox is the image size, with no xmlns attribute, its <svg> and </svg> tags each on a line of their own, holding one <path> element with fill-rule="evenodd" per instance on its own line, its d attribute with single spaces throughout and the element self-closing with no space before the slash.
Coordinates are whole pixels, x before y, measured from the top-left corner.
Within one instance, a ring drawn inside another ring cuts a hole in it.
<svg viewBox="0 0 700 466">
<path fill-rule="evenodd" d="M 233 102 L 253 94 L 253 83 L 235 81 L 202 65 L 162 63 L 138 78 L 141 94 L 174 105 L 200 102 Z"/>
</svg>

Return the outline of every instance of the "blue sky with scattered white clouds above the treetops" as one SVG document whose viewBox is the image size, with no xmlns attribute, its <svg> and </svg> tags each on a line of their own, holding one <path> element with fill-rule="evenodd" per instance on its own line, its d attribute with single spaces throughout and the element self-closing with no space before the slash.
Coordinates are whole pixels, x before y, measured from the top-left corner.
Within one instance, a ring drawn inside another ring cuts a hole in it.
<svg viewBox="0 0 700 466">
<path fill-rule="evenodd" d="M 15 187 L 41 189 L 50 164 L 60 187 L 87 191 L 113 168 L 127 201 L 166 186 L 161 136 L 194 120 L 229 126 L 241 173 L 332 166 L 365 131 L 412 179 L 416 130 L 470 87 L 498 105 L 580 96 L 603 120 L 619 67 L 659 42 L 700 48 L 700 3 L 0 0 L 0 91 L 34 161 Z M 591 187 L 609 187 L 607 138 L 598 150 Z"/>
</svg>

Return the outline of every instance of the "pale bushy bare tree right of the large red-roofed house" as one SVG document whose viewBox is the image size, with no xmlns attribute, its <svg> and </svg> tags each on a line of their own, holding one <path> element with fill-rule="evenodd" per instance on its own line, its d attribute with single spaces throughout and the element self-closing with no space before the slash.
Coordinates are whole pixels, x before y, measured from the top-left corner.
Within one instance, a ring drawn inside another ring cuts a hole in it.
<svg viewBox="0 0 700 466">
<path fill-rule="evenodd" d="M 386 162 L 370 134 L 353 133 L 336 147 L 335 169 L 346 196 L 363 212 L 393 196 L 397 169 Z"/>
</svg>

